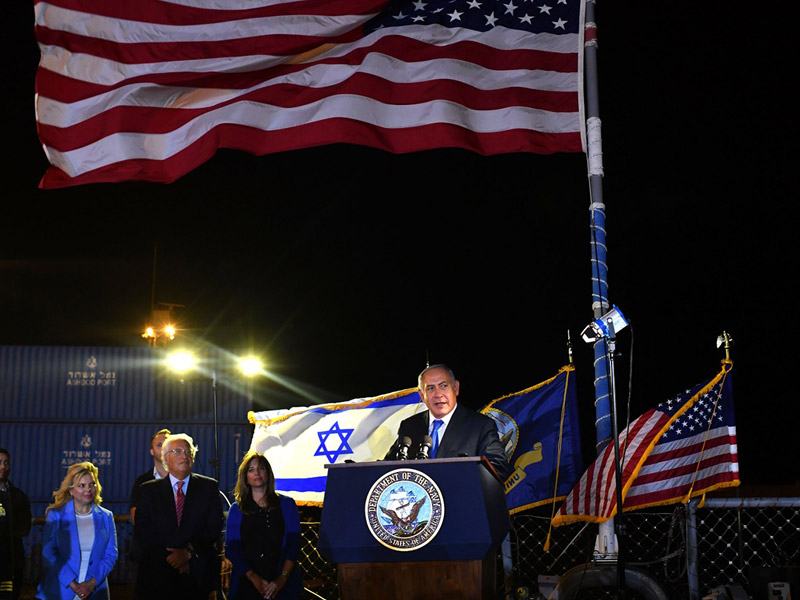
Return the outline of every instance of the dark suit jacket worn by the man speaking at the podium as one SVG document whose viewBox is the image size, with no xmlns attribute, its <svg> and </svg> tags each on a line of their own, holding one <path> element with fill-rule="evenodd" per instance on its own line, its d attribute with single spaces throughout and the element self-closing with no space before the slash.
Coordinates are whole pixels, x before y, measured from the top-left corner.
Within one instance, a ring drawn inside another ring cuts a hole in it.
<svg viewBox="0 0 800 600">
<path fill-rule="evenodd" d="M 511 474 L 511 467 L 506 458 L 505 449 L 500 443 L 495 422 L 480 413 L 456 404 L 450 423 L 439 443 L 436 458 L 455 458 L 457 456 L 485 456 L 494 467 L 500 478 L 505 481 Z M 403 419 L 397 432 L 398 440 L 403 436 L 411 438 L 408 456 L 414 458 L 419 452 L 422 438 L 428 435 L 428 414 L 424 411 Z M 389 449 L 385 460 L 393 460 L 397 453 L 398 442 Z"/>
</svg>

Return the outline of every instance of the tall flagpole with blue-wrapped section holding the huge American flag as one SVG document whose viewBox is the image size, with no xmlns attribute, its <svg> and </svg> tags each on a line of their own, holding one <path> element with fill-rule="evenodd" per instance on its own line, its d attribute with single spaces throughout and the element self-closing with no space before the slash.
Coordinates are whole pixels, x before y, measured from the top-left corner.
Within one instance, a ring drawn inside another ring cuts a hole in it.
<svg viewBox="0 0 800 600">
<path fill-rule="evenodd" d="M 605 204 L 603 203 L 603 144 L 600 122 L 599 84 L 597 76 L 597 24 L 595 23 L 595 0 L 586 0 L 584 25 L 584 82 L 586 90 L 586 156 L 588 161 L 589 193 L 590 193 L 590 231 L 592 257 L 592 311 L 594 318 L 599 319 L 611 308 L 608 301 L 608 263 L 606 262 L 606 228 Z M 613 400 L 613 348 L 609 342 L 601 338 L 594 344 L 595 372 L 595 450 L 599 455 L 608 443 L 616 441 L 616 411 L 612 415 Z M 613 418 L 612 418 L 613 416 Z M 612 427 L 613 425 L 613 427 Z M 613 437 L 612 437 L 613 436 Z M 617 519 L 601 523 L 595 556 L 616 559 L 617 584 L 619 593 L 625 587 L 625 565 L 619 545 L 622 537 L 619 516 L 622 514 L 621 478 L 619 450 L 615 444 L 616 476 L 617 476 Z M 618 534 L 615 539 L 615 532 Z"/>
</svg>

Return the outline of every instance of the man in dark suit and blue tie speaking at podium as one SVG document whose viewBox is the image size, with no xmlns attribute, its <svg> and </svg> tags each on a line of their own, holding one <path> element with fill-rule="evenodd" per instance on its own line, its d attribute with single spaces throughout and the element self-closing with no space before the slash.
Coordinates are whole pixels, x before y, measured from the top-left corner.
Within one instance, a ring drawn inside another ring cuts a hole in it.
<svg viewBox="0 0 800 600">
<path fill-rule="evenodd" d="M 480 413 L 457 404 L 459 383 L 453 371 L 445 365 L 433 365 L 422 371 L 418 379 L 419 391 L 428 410 L 404 419 L 394 443 L 385 459 L 397 457 L 399 440 L 411 439 L 409 457 L 420 450 L 422 439 L 433 439 L 431 458 L 456 456 L 485 456 L 498 477 L 505 481 L 511 474 L 505 449 L 500 443 L 495 422 Z"/>
</svg>

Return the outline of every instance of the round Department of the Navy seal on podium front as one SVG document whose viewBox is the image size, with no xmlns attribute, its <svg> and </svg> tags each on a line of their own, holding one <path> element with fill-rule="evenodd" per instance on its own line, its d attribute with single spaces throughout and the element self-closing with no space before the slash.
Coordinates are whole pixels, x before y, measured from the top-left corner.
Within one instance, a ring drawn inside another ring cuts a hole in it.
<svg viewBox="0 0 800 600">
<path fill-rule="evenodd" d="M 430 542 L 444 519 L 444 498 L 436 482 L 416 469 L 395 469 L 369 490 L 367 527 L 387 548 L 407 552 Z"/>
</svg>

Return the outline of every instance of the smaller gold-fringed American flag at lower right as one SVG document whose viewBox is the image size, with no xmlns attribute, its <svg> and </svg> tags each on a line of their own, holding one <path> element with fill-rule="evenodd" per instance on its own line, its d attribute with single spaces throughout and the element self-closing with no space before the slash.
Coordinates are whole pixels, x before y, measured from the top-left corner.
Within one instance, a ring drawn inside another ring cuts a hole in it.
<svg viewBox="0 0 800 600">
<path fill-rule="evenodd" d="M 623 510 L 686 502 L 739 485 L 733 412 L 733 365 L 710 381 L 662 402 L 619 435 Z M 583 474 L 553 519 L 603 522 L 617 512 L 613 444 Z"/>
</svg>

